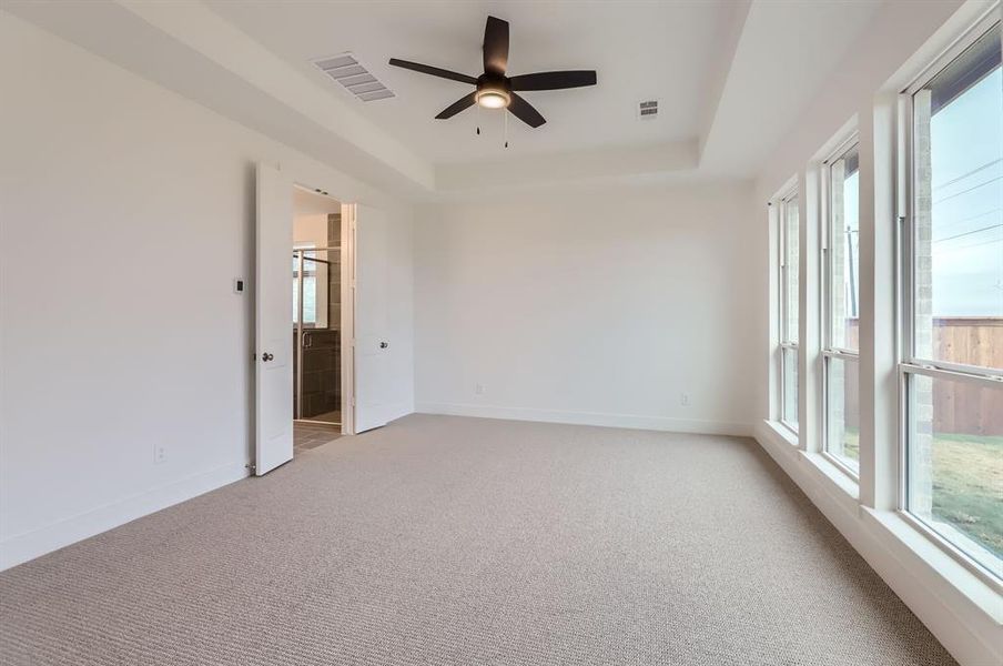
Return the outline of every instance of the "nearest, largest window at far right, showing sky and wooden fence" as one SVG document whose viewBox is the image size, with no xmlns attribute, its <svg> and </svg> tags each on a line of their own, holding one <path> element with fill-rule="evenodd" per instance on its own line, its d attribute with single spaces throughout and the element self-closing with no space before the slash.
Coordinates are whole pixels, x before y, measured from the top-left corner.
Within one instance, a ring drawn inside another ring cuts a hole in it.
<svg viewBox="0 0 1003 666">
<path fill-rule="evenodd" d="M 1003 74 L 983 24 L 904 95 L 904 508 L 1003 578 Z M 953 58 L 952 58 L 953 57 Z"/>
</svg>

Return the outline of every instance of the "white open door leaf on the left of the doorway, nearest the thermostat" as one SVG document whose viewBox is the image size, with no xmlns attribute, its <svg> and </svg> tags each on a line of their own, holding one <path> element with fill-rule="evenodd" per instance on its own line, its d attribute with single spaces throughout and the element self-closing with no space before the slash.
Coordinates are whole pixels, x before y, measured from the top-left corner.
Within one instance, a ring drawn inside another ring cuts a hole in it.
<svg viewBox="0 0 1003 666">
<path fill-rule="evenodd" d="M 293 183 L 257 165 L 255 437 L 257 476 L 293 458 Z"/>
</svg>

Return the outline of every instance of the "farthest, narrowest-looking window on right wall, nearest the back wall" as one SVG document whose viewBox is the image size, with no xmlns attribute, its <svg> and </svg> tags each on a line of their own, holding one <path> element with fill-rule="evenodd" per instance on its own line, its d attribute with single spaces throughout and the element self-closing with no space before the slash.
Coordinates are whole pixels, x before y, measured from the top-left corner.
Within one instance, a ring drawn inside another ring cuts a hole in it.
<svg viewBox="0 0 1003 666">
<path fill-rule="evenodd" d="M 798 432 L 798 196 L 780 200 L 780 421 Z"/>
</svg>

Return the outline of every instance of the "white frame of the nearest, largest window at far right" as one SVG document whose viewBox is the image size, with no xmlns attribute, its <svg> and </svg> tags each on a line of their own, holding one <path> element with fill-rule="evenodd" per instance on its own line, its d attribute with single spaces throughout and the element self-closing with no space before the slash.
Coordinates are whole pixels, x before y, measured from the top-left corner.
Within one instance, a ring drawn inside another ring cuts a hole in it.
<svg viewBox="0 0 1003 666">
<path fill-rule="evenodd" d="M 923 518 L 909 509 L 910 438 L 913 420 L 910 413 L 911 382 L 916 375 L 934 380 L 971 383 L 983 387 L 1003 390 L 1003 370 L 923 359 L 915 354 L 915 109 L 914 94 L 928 85 L 969 47 L 986 32 L 1003 29 L 999 7 L 987 11 L 979 21 L 931 62 L 899 93 L 898 100 L 898 173 L 896 173 L 896 221 L 895 230 L 895 375 L 898 382 L 898 483 L 896 514 L 915 528 L 952 559 L 970 573 L 989 584 L 997 593 L 1003 593 L 1003 577 L 992 571 L 958 544 L 949 541 Z M 1003 48 L 1003 47 L 1001 47 Z"/>
</svg>

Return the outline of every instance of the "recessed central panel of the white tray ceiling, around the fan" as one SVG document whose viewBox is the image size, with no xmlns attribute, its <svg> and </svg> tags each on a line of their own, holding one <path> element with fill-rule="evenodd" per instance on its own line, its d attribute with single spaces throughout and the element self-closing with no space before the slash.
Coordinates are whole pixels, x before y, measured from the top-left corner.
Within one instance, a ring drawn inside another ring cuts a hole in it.
<svg viewBox="0 0 1003 666">
<path fill-rule="evenodd" d="M 435 163 L 503 154 L 554 153 L 599 147 L 665 143 L 697 135 L 705 84 L 718 34 L 732 10 L 727 0 L 651 2 L 402 2 L 292 1 L 207 4 L 317 85 L 361 108 L 381 129 Z M 509 75 L 596 69 L 598 85 L 526 92 L 547 119 L 533 130 L 509 115 L 503 153 L 502 111 L 435 114 L 472 87 L 387 64 L 392 57 L 478 75 L 488 14 L 510 23 Z M 397 97 L 356 101 L 311 60 L 353 52 Z M 660 98 L 655 120 L 640 121 L 641 99 Z M 482 135 L 475 133 L 482 124 Z"/>
</svg>

